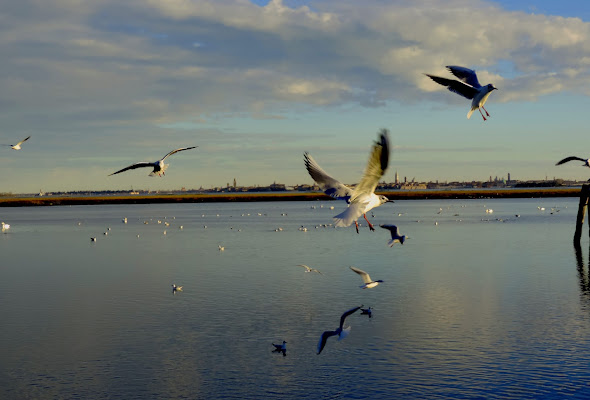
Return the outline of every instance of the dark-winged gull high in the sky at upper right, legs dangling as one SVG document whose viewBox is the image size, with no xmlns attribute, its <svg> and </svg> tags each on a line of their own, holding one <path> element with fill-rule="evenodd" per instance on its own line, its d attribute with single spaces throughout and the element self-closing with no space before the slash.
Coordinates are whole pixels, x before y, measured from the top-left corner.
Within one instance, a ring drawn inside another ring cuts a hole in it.
<svg viewBox="0 0 590 400">
<path fill-rule="evenodd" d="M 498 88 L 494 87 L 494 85 L 491 83 L 481 86 L 477 80 L 475 71 L 472 69 L 458 67 L 456 65 L 448 65 L 447 69 L 451 71 L 451 73 L 457 78 L 459 78 L 459 80 L 441 78 L 440 76 L 429 74 L 424 75 L 436 83 L 446 86 L 451 92 L 457 93 L 458 95 L 471 100 L 471 110 L 469 110 L 467 113 L 467 119 L 471 118 L 473 111 L 479 110 L 481 117 L 484 121 L 486 121 L 486 117 L 484 117 L 481 109 L 483 108 L 483 110 L 486 112 L 486 115 L 488 117 L 490 116 L 488 110 L 485 109 L 484 104 L 488 100 L 490 93 L 492 93 L 493 90 L 497 90 Z"/>
</svg>

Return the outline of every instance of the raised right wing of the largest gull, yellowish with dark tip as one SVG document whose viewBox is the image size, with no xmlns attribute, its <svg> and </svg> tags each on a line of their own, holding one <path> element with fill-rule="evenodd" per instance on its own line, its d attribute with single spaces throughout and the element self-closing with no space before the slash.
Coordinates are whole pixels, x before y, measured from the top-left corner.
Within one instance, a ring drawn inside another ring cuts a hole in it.
<svg viewBox="0 0 590 400">
<path fill-rule="evenodd" d="M 372 194 L 375 192 L 379 179 L 381 179 L 389 165 L 388 133 L 387 129 L 381 129 L 379 132 L 379 141 L 373 144 L 365 173 L 359 184 L 354 188 L 352 198 L 350 199 L 351 203 L 363 194 Z"/>
</svg>

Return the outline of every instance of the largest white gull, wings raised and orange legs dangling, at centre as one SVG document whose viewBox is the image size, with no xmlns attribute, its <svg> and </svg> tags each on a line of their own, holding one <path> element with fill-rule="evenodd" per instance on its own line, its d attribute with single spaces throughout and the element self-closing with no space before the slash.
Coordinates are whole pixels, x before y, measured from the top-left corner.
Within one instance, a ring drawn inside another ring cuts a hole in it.
<svg viewBox="0 0 590 400">
<path fill-rule="evenodd" d="M 369 224 L 369 229 L 374 231 L 375 228 L 369 222 L 365 213 L 375 207 L 379 207 L 381 204 L 393 203 L 393 200 L 375 194 L 379 179 L 381 179 L 389 164 L 388 133 L 387 129 L 381 129 L 379 132 L 379 140 L 373 144 L 363 177 L 354 188 L 348 187 L 332 178 L 308 153 L 304 154 L 307 172 L 309 172 L 309 175 L 324 193 L 335 199 L 345 200 L 348 203 L 348 208 L 334 217 L 336 226 L 350 226 L 354 222 L 358 233 L 359 225 L 357 220 L 362 215 Z"/>
</svg>

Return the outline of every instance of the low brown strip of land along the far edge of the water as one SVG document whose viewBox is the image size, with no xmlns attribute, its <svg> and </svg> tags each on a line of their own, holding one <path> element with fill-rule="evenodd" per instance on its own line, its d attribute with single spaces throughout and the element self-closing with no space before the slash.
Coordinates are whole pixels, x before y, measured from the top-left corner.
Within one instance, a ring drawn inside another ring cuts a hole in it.
<svg viewBox="0 0 590 400">
<path fill-rule="evenodd" d="M 450 189 L 377 191 L 390 200 L 579 197 L 581 188 Z M 0 207 L 67 206 L 92 204 L 219 203 L 256 201 L 334 200 L 321 192 L 223 194 L 153 194 L 105 196 L 0 197 Z"/>
</svg>

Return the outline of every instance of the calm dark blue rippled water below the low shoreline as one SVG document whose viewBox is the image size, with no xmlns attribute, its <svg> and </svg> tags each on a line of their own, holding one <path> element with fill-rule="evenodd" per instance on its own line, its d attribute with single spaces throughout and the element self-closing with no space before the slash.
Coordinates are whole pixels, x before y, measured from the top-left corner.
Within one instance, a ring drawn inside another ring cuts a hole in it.
<svg viewBox="0 0 590 400">
<path fill-rule="evenodd" d="M 393 248 L 341 202 L 0 209 L 0 398 L 589 398 L 577 202 L 398 201 Z"/>
</svg>

